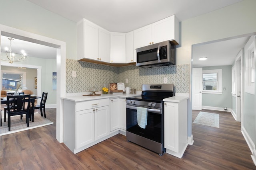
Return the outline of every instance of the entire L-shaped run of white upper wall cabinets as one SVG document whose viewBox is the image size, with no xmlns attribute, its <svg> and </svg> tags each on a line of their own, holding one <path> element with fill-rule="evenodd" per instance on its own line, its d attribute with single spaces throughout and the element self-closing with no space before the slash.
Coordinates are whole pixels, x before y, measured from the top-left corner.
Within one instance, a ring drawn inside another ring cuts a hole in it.
<svg viewBox="0 0 256 170">
<path fill-rule="evenodd" d="M 167 40 L 177 45 L 179 34 L 174 15 L 128 33 L 110 33 L 83 19 L 77 23 L 77 59 L 99 64 L 135 63 L 137 48 Z"/>
</svg>

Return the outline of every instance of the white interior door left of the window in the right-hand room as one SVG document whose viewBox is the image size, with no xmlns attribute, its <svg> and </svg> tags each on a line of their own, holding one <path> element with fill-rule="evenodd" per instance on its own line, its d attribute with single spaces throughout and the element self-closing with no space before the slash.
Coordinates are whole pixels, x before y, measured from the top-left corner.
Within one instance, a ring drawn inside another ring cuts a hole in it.
<svg viewBox="0 0 256 170">
<path fill-rule="evenodd" d="M 192 110 L 202 110 L 203 69 L 192 68 Z"/>
</svg>

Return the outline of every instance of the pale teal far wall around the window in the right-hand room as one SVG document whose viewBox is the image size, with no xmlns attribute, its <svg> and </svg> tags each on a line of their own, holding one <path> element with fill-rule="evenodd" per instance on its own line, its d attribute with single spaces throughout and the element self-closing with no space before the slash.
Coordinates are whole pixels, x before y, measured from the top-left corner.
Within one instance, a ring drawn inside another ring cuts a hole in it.
<svg viewBox="0 0 256 170">
<path fill-rule="evenodd" d="M 208 66 L 203 70 L 222 69 L 222 94 L 202 94 L 202 106 L 232 107 L 232 66 Z M 226 88 L 226 90 L 223 90 Z"/>
</svg>

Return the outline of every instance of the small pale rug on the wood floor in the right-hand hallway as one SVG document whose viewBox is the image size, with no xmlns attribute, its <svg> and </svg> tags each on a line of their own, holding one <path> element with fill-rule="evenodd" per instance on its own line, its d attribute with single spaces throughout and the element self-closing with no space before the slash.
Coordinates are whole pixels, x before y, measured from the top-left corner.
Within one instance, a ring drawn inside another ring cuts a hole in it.
<svg viewBox="0 0 256 170">
<path fill-rule="evenodd" d="M 200 111 L 193 123 L 219 128 L 219 114 Z"/>
</svg>

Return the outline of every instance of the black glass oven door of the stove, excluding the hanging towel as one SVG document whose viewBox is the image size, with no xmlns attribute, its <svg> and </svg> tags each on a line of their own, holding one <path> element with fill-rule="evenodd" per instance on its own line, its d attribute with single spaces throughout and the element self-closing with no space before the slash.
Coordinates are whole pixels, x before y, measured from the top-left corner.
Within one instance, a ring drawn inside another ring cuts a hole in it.
<svg viewBox="0 0 256 170">
<path fill-rule="evenodd" d="M 137 107 L 126 104 L 126 131 L 158 143 L 163 143 L 164 125 L 162 109 L 147 108 L 148 121 L 146 128 L 143 129 L 137 123 Z"/>
</svg>

